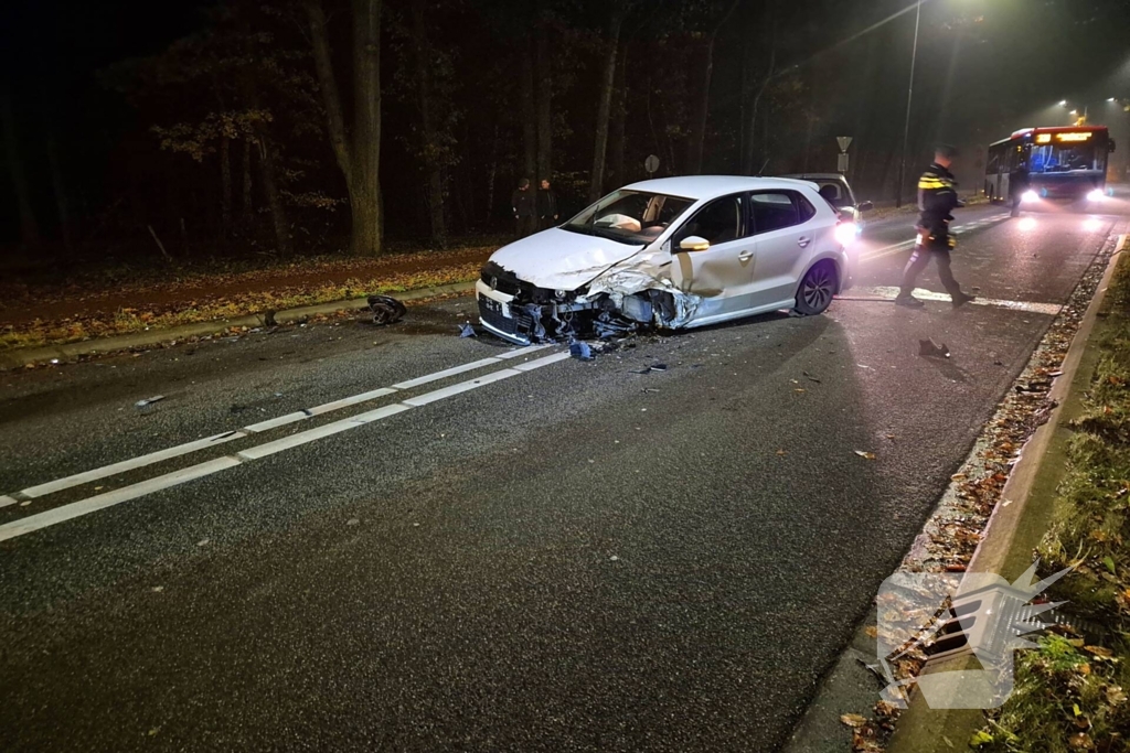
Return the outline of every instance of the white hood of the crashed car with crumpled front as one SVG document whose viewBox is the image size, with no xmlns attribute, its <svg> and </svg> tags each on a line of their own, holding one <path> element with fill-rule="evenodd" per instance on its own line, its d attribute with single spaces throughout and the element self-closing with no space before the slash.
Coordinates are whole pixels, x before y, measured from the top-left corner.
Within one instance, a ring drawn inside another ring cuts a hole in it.
<svg viewBox="0 0 1130 753">
<path fill-rule="evenodd" d="M 490 261 L 538 288 L 576 290 L 643 247 L 553 228 L 499 248 Z"/>
</svg>

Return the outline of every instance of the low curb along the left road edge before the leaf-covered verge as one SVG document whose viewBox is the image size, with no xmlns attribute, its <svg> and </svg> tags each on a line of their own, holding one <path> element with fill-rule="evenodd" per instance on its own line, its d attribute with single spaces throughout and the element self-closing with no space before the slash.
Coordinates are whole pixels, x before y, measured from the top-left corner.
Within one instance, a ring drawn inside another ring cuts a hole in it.
<svg viewBox="0 0 1130 753">
<path fill-rule="evenodd" d="M 454 282 L 452 284 L 436 286 L 433 288 L 419 288 L 417 290 L 406 290 L 405 292 L 391 292 L 384 295 L 403 303 L 411 303 L 426 298 L 437 298 L 440 296 L 468 294 L 472 290 L 475 290 L 475 282 Z M 301 322 L 311 316 L 333 314 L 336 312 L 356 310 L 365 308 L 366 306 L 368 306 L 368 303 L 365 298 L 336 300 L 328 304 L 315 304 L 313 306 L 299 306 L 298 308 L 276 312 L 275 322 L 277 324 L 289 324 L 292 322 Z M 232 327 L 263 326 L 266 324 L 264 317 L 266 314 L 247 314 L 245 316 L 212 319 L 210 322 L 181 324 L 162 330 L 150 330 L 146 332 L 113 335 L 110 338 L 82 340 L 61 345 L 20 348 L 0 352 L 0 371 L 25 368 L 29 364 L 38 364 L 50 361 L 52 359 L 69 360 L 80 356 L 95 356 L 98 353 L 104 354 L 120 350 L 158 345 L 160 343 L 182 340 L 185 338 L 202 338 L 224 332 L 225 330 L 229 330 Z"/>
</svg>

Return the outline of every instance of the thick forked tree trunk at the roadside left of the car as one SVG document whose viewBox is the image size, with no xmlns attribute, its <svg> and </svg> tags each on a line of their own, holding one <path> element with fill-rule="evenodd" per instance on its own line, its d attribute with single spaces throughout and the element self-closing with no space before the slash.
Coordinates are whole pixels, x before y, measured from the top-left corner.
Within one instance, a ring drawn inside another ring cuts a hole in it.
<svg viewBox="0 0 1130 753">
<path fill-rule="evenodd" d="M 381 254 L 381 0 L 353 0 L 354 123 L 347 137 L 341 97 L 333 77 L 325 12 L 320 0 L 305 0 L 327 130 L 349 191 L 353 216 L 350 251 Z"/>
</svg>

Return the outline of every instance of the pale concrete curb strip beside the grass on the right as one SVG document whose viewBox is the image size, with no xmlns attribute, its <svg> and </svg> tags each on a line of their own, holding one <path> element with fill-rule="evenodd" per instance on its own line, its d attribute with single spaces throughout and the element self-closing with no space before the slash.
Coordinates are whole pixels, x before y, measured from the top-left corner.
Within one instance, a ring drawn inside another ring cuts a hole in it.
<svg viewBox="0 0 1130 753">
<path fill-rule="evenodd" d="M 1114 269 L 1118 265 L 1119 252 L 1127 251 L 1128 236 L 1119 237 L 1115 253 L 1111 255 L 1106 270 L 1095 290 L 1095 296 L 1087 307 L 1079 329 L 1076 331 L 1063 358 L 1062 375 L 1058 377 L 1049 393 L 1049 400 L 1055 401 L 1046 423 L 1035 430 L 1025 443 L 1020 459 L 1009 474 L 1001 490 L 1000 501 L 993 508 L 985 524 L 981 543 L 970 560 L 967 572 L 993 572 L 1008 578 L 1018 577 L 1031 564 L 1032 550 L 1043 536 L 1045 518 L 1032 520 L 1033 491 L 1042 472 L 1051 472 L 1045 465 L 1049 452 L 1053 448 L 1055 435 L 1061 430 L 1068 412 L 1071 395 L 1086 388 L 1090 375 L 1080 370 L 1088 350 L 1090 336 L 1095 330 L 1099 310 L 1106 299 Z M 1025 519 L 1027 514 L 1027 518 Z M 925 672 L 954 669 L 956 666 L 927 666 Z M 966 750 L 967 741 L 984 726 L 984 712 L 967 709 L 931 709 L 922 694 L 915 689 L 909 707 L 899 716 L 898 725 L 887 745 L 887 753 L 951 753 Z"/>
</svg>

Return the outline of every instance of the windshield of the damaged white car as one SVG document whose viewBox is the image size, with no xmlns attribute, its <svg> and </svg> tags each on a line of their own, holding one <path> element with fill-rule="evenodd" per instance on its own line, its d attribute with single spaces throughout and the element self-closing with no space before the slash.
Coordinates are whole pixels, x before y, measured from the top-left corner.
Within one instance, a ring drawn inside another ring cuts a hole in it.
<svg viewBox="0 0 1130 753">
<path fill-rule="evenodd" d="M 642 245 L 662 235 L 693 203 L 693 199 L 621 190 L 605 196 L 562 229 Z"/>
</svg>

